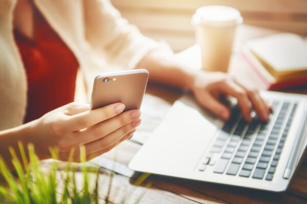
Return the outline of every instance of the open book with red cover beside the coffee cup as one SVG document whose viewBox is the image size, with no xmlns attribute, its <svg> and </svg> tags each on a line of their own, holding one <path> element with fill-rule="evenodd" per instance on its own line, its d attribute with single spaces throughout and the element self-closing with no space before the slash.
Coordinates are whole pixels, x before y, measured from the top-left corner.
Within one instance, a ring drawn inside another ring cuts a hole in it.
<svg viewBox="0 0 307 204">
<path fill-rule="evenodd" d="M 243 56 L 267 89 L 307 84 L 307 40 L 292 33 L 252 40 Z"/>
</svg>

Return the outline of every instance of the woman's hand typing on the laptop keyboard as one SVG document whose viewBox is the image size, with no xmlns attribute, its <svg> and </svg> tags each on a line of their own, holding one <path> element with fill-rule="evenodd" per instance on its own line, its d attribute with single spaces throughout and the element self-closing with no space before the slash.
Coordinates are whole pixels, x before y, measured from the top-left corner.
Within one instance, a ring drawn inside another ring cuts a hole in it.
<svg viewBox="0 0 307 204">
<path fill-rule="evenodd" d="M 192 79 L 190 89 L 195 98 L 221 119 L 228 120 L 230 111 L 220 102 L 220 99 L 225 95 L 230 95 L 237 99 L 246 121 L 251 122 L 252 120 L 252 106 L 260 120 L 268 120 L 271 107 L 260 97 L 255 87 L 243 85 L 225 73 L 199 71 L 193 74 Z"/>
</svg>

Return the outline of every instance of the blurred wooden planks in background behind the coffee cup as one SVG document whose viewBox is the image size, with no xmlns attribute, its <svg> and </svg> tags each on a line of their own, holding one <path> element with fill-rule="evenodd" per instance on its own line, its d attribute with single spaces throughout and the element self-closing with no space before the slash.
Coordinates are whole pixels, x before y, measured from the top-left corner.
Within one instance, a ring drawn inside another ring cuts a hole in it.
<svg viewBox="0 0 307 204">
<path fill-rule="evenodd" d="M 206 5 L 238 9 L 244 23 L 307 34 L 307 0 L 111 0 L 143 34 L 167 41 L 175 52 L 194 43 L 190 19 Z"/>
</svg>

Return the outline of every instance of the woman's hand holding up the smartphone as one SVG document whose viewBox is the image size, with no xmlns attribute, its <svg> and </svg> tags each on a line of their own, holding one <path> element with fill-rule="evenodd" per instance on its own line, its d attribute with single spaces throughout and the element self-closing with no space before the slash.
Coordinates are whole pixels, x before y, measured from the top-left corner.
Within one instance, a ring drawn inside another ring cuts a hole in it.
<svg viewBox="0 0 307 204">
<path fill-rule="evenodd" d="M 95 110 L 89 104 L 70 103 L 32 121 L 30 141 L 40 158 L 50 158 L 49 147 L 59 149 L 59 160 L 67 161 L 72 148 L 74 160 L 84 145 L 90 160 L 131 137 L 140 124 L 140 110 L 123 112 L 125 106 L 115 103 Z"/>
</svg>

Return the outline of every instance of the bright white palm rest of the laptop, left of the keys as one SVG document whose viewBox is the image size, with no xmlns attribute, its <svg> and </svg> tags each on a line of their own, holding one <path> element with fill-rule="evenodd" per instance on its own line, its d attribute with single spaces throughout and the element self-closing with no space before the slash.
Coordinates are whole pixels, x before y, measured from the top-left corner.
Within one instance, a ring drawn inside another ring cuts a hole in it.
<svg viewBox="0 0 307 204">
<path fill-rule="evenodd" d="M 176 101 L 129 167 L 136 171 L 180 176 L 193 171 L 218 122 L 191 99 Z"/>
</svg>

